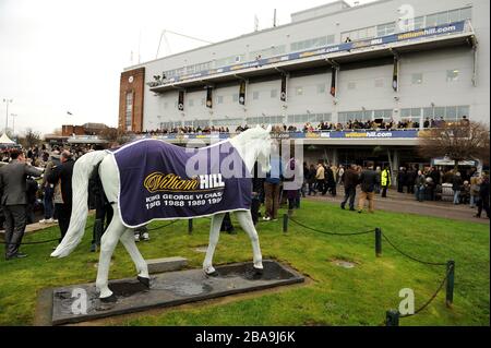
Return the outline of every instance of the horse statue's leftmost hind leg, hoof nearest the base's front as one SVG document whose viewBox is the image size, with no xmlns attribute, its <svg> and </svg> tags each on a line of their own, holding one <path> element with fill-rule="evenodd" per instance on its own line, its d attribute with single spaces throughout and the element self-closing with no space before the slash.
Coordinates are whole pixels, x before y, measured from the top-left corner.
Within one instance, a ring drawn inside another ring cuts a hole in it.
<svg viewBox="0 0 491 348">
<path fill-rule="evenodd" d="M 119 218 L 119 212 L 115 209 L 112 220 L 100 240 L 99 266 L 96 279 L 97 290 L 100 291 L 99 298 L 105 302 L 116 301 L 116 297 L 108 287 L 109 266 L 116 244 L 118 244 L 121 235 L 125 231 L 127 228 Z"/>
</svg>

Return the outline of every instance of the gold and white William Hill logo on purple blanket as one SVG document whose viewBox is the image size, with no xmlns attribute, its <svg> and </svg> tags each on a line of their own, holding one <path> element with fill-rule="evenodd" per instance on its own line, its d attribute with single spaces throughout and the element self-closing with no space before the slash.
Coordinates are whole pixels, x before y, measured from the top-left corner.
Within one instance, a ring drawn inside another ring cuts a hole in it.
<svg viewBox="0 0 491 348">
<path fill-rule="evenodd" d="M 225 188 L 220 173 L 202 175 L 193 179 L 182 179 L 175 173 L 153 172 L 148 175 L 143 187 L 149 192 L 160 191 L 196 191 Z"/>
</svg>

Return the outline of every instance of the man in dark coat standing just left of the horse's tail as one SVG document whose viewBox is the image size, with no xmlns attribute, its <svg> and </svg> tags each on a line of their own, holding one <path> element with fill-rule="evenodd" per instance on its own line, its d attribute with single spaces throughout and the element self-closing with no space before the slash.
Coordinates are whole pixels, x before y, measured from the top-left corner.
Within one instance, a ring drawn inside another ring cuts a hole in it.
<svg viewBox="0 0 491 348">
<path fill-rule="evenodd" d="M 48 182 L 60 184 L 61 197 L 55 200 L 55 208 L 58 214 L 58 225 L 60 227 L 61 240 L 70 226 L 72 215 L 72 176 L 75 161 L 69 151 L 63 151 L 60 156 L 61 165 L 52 168 L 48 177 Z"/>
</svg>

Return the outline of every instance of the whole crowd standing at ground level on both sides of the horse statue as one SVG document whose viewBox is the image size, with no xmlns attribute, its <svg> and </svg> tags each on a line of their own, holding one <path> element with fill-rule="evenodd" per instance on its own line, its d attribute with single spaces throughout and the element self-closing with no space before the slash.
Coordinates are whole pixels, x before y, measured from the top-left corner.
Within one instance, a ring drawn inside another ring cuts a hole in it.
<svg viewBox="0 0 491 348">
<path fill-rule="evenodd" d="M 26 151 L 11 148 L 2 152 L 0 163 L 0 225 L 5 229 L 7 260 L 25 257 L 20 252 L 22 237 L 27 224 L 35 223 L 35 212 L 43 211 L 40 224 L 58 224 L 60 241 L 68 231 L 72 211 L 71 178 L 75 160 L 87 152 L 101 149 L 95 146 L 33 146 Z M 288 161 L 279 156 L 270 158 L 270 170 L 265 178 L 258 175 L 252 178 L 251 213 L 254 224 L 262 216 L 264 220 L 276 220 L 278 208 L 287 204 L 288 214 L 300 207 L 300 199 L 308 195 L 337 195 L 337 187 L 344 187 L 343 209 L 364 211 L 368 201 L 369 212 L 374 212 L 374 197 L 387 197 L 392 187 L 391 168 L 374 167 L 367 163 L 364 168 L 358 165 L 335 166 L 319 160 L 315 165 L 299 164 L 292 157 Z M 294 176 L 288 177 L 286 171 Z M 296 178 L 302 177 L 301 185 L 289 185 Z M 444 189 L 452 190 L 454 204 L 468 204 L 477 208 L 476 217 L 482 211 L 490 216 L 489 176 L 481 175 L 476 168 L 459 172 L 456 169 L 430 167 L 420 169 L 415 166 L 400 167 L 396 178 L 399 193 L 412 194 L 417 201 L 443 200 Z M 359 193 L 357 188 L 359 187 Z M 356 196 L 358 196 L 358 204 Z M 264 204 L 264 214 L 260 208 Z M 112 218 L 112 208 L 105 197 L 98 171 L 89 180 L 88 206 L 95 209 L 95 224 L 91 251 L 96 251 L 100 238 Z M 1 226 L 0 226 L 1 227 Z M 223 230 L 232 230 L 227 216 Z M 135 240 L 149 240 L 148 230 L 143 227 L 135 230 Z"/>
</svg>

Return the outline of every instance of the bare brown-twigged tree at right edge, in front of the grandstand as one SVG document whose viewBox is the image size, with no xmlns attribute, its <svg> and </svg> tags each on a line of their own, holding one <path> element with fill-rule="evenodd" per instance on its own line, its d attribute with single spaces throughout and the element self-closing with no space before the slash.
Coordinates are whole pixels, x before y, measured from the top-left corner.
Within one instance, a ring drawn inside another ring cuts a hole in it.
<svg viewBox="0 0 491 348">
<path fill-rule="evenodd" d="M 447 157 L 458 163 L 479 159 L 489 165 L 489 125 L 480 122 L 447 122 L 421 132 L 419 154 L 422 157 Z"/>
</svg>

